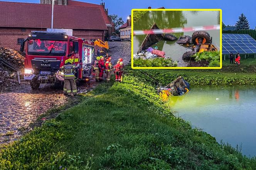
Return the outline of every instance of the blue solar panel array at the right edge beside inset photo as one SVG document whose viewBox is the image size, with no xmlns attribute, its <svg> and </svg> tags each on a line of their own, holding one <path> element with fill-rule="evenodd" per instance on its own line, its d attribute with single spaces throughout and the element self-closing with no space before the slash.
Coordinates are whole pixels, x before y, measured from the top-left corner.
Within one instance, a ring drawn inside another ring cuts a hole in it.
<svg viewBox="0 0 256 170">
<path fill-rule="evenodd" d="M 222 54 L 256 53 L 256 41 L 248 34 L 222 34 Z"/>
</svg>

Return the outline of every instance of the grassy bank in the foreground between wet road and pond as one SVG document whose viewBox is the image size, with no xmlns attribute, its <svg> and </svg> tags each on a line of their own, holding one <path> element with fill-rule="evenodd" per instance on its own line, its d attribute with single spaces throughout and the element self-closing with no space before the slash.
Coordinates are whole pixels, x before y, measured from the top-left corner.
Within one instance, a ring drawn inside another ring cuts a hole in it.
<svg viewBox="0 0 256 170">
<path fill-rule="evenodd" d="M 132 73 L 123 83 L 99 85 L 80 104 L 4 146 L 0 169 L 256 168 L 255 158 L 173 117 L 151 80 Z"/>
</svg>

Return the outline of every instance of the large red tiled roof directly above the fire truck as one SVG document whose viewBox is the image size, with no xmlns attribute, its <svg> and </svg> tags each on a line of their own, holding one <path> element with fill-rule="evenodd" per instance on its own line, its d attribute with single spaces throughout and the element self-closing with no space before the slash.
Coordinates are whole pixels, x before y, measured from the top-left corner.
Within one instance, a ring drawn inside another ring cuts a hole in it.
<svg viewBox="0 0 256 170">
<path fill-rule="evenodd" d="M 0 2 L 0 27 L 51 28 L 52 5 Z M 54 5 L 54 28 L 107 30 L 99 7 Z"/>
</svg>

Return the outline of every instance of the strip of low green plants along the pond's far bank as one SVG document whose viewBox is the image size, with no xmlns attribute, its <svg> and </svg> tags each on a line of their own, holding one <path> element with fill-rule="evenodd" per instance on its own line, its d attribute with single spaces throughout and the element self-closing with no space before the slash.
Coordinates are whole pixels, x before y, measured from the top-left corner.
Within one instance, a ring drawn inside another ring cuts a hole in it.
<svg viewBox="0 0 256 170">
<path fill-rule="evenodd" d="M 147 79 L 155 85 L 158 85 L 156 83 L 158 82 L 163 86 L 179 76 L 184 77 L 190 85 L 256 85 L 255 73 L 233 73 L 221 70 L 131 70 L 130 75 L 139 77 L 142 81 Z"/>
</svg>

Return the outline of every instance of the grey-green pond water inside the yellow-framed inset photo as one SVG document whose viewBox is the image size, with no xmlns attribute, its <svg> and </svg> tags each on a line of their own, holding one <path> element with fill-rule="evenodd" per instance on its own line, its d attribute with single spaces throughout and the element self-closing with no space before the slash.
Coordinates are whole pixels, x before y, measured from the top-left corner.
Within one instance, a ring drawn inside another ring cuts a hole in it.
<svg viewBox="0 0 256 170">
<path fill-rule="evenodd" d="M 149 11 L 138 21 L 134 22 L 133 30 L 149 30 L 153 23 L 160 29 L 177 27 L 195 27 L 205 25 L 220 24 L 219 11 Z M 209 30 L 212 37 L 212 44 L 219 50 L 220 30 Z M 177 38 L 182 35 L 192 36 L 193 32 L 174 33 Z M 133 53 L 136 53 L 146 35 L 136 35 L 133 37 Z M 191 51 L 175 43 L 176 41 L 161 40 L 156 45 L 158 50 L 166 53 L 173 60 L 179 61 L 178 67 L 186 67 L 187 63 L 182 60 L 182 55 Z M 153 45 L 155 46 L 155 45 Z"/>
</svg>

